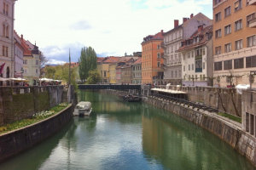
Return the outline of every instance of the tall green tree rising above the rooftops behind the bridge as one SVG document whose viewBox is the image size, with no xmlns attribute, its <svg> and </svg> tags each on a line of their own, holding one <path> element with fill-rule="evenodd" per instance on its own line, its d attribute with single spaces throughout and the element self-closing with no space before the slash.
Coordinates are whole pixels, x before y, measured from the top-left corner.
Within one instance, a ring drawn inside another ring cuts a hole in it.
<svg viewBox="0 0 256 170">
<path fill-rule="evenodd" d="M 84 82 L 89 77 L 89 71 L 96 70 L 97 57 L 93 48 L 82 48 L 79 59 L 79 77 Z"/>
</svg>

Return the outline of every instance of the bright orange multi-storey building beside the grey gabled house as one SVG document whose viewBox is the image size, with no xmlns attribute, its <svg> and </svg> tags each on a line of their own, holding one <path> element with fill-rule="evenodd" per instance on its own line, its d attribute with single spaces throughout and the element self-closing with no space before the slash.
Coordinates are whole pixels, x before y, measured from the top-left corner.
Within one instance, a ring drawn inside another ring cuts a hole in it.
<svg viewBox="0 0 256 170">
<path fill-rule="evenodd" d="M 164 49 L 161 43 L 164 32 L 143 38 L 142 42 L 142 83 L 161 84 L 163 80 L 163 62 L 161 58 Z"/>
</svg>

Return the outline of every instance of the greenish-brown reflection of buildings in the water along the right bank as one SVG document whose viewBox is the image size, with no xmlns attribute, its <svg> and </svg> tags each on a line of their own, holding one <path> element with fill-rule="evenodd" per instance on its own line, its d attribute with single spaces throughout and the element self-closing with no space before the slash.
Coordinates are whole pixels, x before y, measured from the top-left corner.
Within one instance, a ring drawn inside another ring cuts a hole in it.
<svg viewBox="0 0 256 170">
<path fill-rule="evenodd" d="M 150 106 L 148 106 L 150 107 Z M 143 150 L 170 169 L 253 169 L 228 144 L 201 127 L 154 108 L 143 111 Z"/>
</svg>

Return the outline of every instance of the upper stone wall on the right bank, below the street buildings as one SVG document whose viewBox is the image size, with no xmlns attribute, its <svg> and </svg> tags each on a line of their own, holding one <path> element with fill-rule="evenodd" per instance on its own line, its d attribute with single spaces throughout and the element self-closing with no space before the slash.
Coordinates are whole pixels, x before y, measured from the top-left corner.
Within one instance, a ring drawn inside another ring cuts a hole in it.
<svg viewBox="0 0 256 170">
<path fill-rule="evenodd" d="M 158 88 L 166 88 L 166 86 Z M 241 94 L 237 94 L 234 88 L 169 86 L 169 89 L 186 92 L 189 101 L 200 102 L 219 111 L 241 117 Z"/>
</svg>

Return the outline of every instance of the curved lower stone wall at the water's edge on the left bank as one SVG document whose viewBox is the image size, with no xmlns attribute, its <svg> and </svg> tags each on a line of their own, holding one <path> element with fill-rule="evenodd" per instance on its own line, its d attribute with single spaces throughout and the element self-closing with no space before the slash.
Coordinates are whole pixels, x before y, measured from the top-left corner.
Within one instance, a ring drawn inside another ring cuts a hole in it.
<svg viewBox="0 0 256 170">
<path fill-rule="evenodd" d="M 48 119 L 27 127 L 0 135 L 0 161 L 15 156 L 20 151 L 31 148 L 58 132 L 73 117 L 73 106 Z"/>
</svg>

